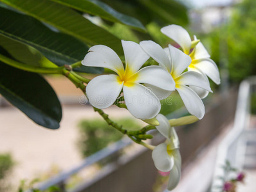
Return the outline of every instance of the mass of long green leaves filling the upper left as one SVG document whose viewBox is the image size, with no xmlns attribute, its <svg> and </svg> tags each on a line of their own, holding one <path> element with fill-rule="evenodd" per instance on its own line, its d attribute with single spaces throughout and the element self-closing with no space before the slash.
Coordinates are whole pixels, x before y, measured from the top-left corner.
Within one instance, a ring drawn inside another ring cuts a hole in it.
<svg viewBox="0 0 256 192">
<path fill-rule="evenodd" d="M 174 0 L 0 0 L 0 12 L 0 93 L 34 122 L 50 129 L 57 129 L 61 119 L 56 94 L 41 76 L 14 67 L 64 74 L 83 89 L 84 78 L 75 71 L 103 72 L 102 68 L 81 67 L 88 47 L 107 45 L 123 58 L 121 39 L 151 40 L 156 27 L 188 23 L 187 8 Z M 84 15 L 95 15 L 100 22 Z M 152 33 L 145 28 L 149 23 L 156 24 L 151 26 Z"/>
</svg>

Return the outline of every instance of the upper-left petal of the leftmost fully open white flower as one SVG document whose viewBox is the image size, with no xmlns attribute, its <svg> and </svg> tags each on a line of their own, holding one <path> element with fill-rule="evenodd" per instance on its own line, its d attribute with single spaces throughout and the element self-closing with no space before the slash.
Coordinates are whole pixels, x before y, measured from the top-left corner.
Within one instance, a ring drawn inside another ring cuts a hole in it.
<svg viewBox="0 0 256 192">
<path fill-rule="evenodd" d="M 113 51 L 105 45 L 95 45 L 91 47 L 82 60 L 82 65 L 89 67 L 104 67 L 116 72 L 118 75 L 124 71 L 123 63 Z"/>
</svg>

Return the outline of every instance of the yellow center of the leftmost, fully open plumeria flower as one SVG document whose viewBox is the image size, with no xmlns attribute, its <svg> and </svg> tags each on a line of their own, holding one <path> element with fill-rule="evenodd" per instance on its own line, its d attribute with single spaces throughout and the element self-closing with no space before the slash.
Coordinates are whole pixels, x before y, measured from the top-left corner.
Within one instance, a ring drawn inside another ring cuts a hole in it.
<svg viewBox="0 0 256 192">
<path fill-rule="evenodd" d="M 138 74 L 134 74 L 134 72 L 127 67 L 125 68 L 124 72 L 120 73 L 120 76 L 118 77 L 118 83 L 123 83 L 125 86 L 133 86 L 134 81 L 136 81 L 137 78 Z"/>
</svg>

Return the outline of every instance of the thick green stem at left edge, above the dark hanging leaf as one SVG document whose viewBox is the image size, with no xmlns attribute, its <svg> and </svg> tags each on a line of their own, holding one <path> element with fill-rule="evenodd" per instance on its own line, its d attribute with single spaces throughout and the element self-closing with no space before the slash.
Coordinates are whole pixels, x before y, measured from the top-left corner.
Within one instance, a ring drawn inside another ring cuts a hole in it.
<svg viewBox="0 0 256 192">
<path fill-rule="evenodd" d="M 35 72 L 39 74 L 62 74 L 62 70 L 64 67 L 57 67 L 57 68 L 46 68 L 46 67 L 36 67 L 24 63 L 20 63 L 18 61 L 12 60 L 0 54 L 0 61 L 6 63 L 12 67 L 19 68 L 21 70 L 26 70 L 29 72 Z"/>
</svg>

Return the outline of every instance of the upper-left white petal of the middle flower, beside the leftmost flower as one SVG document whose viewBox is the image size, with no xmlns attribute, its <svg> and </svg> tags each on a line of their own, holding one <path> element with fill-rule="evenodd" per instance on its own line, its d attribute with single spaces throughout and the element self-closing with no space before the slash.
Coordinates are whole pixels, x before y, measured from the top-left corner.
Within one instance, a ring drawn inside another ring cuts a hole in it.
<svg viewBox="0 0 256 192">
<path fill-rule="evenodd" d="M 140 46 L 151 58 L 156 60 L 161 67 L 166 68 L 169 72 L 171 71 L 170 59 L 160 45 L 152 41 L 143 41 L 140 42 Z"/>
</svg>

